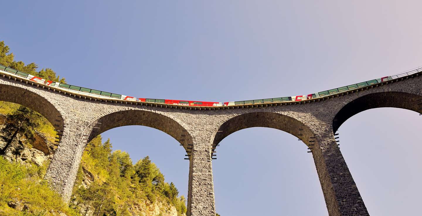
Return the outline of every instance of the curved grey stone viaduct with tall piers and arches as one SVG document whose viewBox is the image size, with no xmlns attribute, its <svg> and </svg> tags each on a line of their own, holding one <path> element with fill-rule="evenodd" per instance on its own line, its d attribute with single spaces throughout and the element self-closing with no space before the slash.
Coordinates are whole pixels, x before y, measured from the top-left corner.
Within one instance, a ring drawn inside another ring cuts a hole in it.
<svg viewBox="0 0 422 216">
<path fill-rule="evenodd" d="M 0 75 L 0 100 L 41 113 L 57 129 L 60 142 L 45 178 L 64 200 L 70 200 L 84 143 L 115 127 L 142 125 L 174 137 L 189 155 L 188 216 L 215 216 L 212 155 L 222 139 L 249 127 L 280 129 L 303 141 L 330 216 L 369 215 L 334 134 L 359 112 L 395 107 L 420 113 L 422 103 L 422 72 L 319 99 L 223 107 L 100 100 Z"/>
</svg>

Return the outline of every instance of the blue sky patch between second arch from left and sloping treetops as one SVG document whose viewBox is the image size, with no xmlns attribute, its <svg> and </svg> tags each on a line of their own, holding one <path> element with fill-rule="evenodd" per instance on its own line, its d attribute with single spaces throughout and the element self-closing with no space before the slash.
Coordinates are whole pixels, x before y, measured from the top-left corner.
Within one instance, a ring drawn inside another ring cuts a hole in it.
<svg viewBox="0 0 422 216">
<path fill-rule="evenodd" d="M 187 199 L 189 161 L 183 159 L 186 158 L 185 150 L 177 145 L 179 142 L 173 137 L 158 129 L 135 125 L 117 127 L 100 135 L 103 142 L 110 139 L 113 150 L 129 153 L 134 164 L 149 156 L 164 174 L 165 182 L 173 182 L 179 195 L 184 195 Z"/>
</svg>

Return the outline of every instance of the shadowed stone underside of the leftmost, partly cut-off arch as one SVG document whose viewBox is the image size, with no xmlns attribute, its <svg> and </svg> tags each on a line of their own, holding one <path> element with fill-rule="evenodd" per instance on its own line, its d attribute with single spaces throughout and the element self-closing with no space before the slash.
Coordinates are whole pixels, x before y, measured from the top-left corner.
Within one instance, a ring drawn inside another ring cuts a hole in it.
<svg viewBox="0 0 422 216">
<path fill-rule="evenodd" d="M 56 129 L 63 130 L 60 111 L 45 97 L 30 90 L 7 84 L 0 84 L 0 100 L 17 103 L 44 116 Z"/>
</svg>

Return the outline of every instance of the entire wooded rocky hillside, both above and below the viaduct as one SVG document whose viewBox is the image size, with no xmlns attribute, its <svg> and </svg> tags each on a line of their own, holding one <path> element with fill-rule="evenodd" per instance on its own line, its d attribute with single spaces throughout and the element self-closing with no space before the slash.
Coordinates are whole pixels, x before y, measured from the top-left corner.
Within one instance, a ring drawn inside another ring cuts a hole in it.
<svg viewBox="0 0 422 216">
<path fill-rule="evenodd" d="M 0 64 L 56 82 L 51 68 L 14 61 L 0 42 Z M 182 216 L 186 200 L 150 158 L 133 164 L 128 153 L 112 151 L 100 136 L 84 152 L 69 204 L 43 177 L 56 146 L 53 126 L 29 108 L 0 102 L 0 215 Z"/>
</svg>

